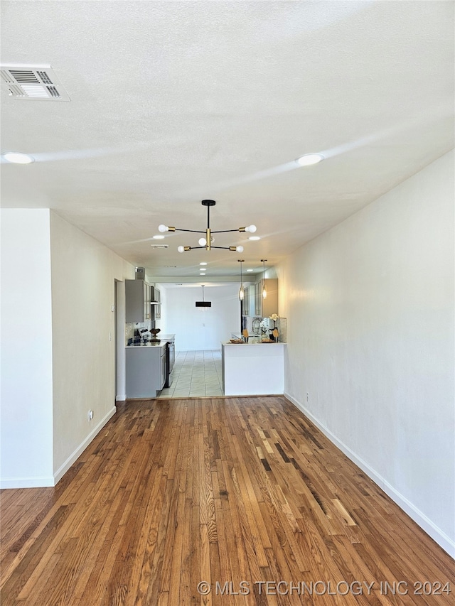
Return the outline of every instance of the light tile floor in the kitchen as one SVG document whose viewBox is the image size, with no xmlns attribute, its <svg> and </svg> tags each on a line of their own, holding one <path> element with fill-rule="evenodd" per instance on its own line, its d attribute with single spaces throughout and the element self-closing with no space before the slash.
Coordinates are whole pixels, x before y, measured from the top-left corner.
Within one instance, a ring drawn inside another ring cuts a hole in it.
<svg viewBox="0 0 455 606">
<path fill-rule="evenodd" d="M 160 398 L 200 398 L 222 396 L 221 351 L 176 352 L 172 384 Z"/>
</svg>

